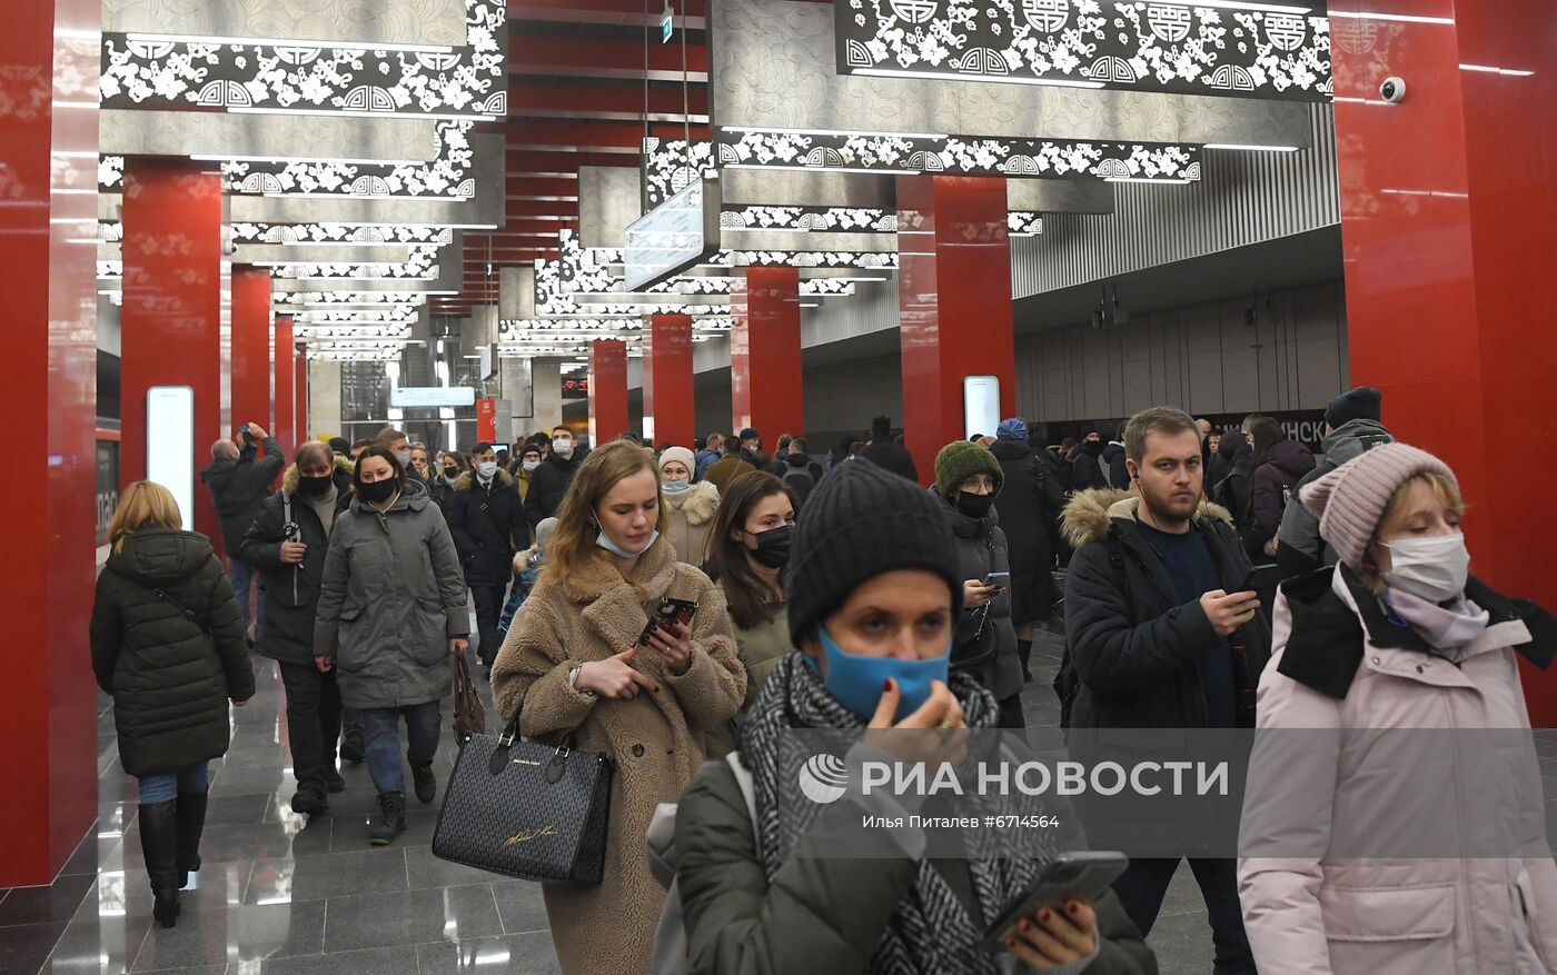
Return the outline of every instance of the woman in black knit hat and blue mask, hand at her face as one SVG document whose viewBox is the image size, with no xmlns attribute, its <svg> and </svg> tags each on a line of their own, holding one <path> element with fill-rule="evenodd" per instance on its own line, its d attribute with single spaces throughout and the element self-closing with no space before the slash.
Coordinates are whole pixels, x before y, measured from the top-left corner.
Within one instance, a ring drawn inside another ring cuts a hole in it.
<svg viewBox="0 0 1557 975">
<path fill-rule="evenodd" d="M 1063 836 L 1046 835 L 1029 857 L 934 866 L 923 835 L 911 830 L 863 832 L 850 839 L 849 858 L 808 847 L 833 824 L 858 827 L 861 815 L 887 810 L 880 791 L 847 788 L 825 802 L 807 791 L 802 771 L 819 757 L 791 729 L 995 726 L 995 699 L 948 667 L 962 573 L 942 508 L 931 492 L 873 464 L 844 464 L 811 494 L 785 587 L 799 649 L 778 662 L 747 712 L 738 760 L 704 765 L 676 815 L 691 972 L 1157 970 L 1112 892 L 1039 908 L 998 956 L 979 947 L 986 927 L 1065 849 Z M 856 783 L 866 759 L 934 769 L 965 754 L 967 738 L 954 730 L 873 735 L 849 749 L 842 768 Z"/>
</svg>

